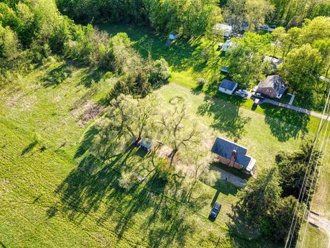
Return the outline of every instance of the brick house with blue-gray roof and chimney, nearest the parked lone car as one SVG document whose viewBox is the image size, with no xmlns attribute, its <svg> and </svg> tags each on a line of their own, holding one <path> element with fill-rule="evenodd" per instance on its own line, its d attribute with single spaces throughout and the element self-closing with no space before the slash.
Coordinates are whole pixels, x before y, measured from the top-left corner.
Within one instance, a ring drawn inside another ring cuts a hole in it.
<svg viewBox="0 0 330 248">
<path fill-rule="evenodd" d="M 217 137 L 212 146 L 211 152 L 218 155 L 218 160 L 236 169 L 244 169 L 246 173 L 253 174 L 256 160 L 251 156 L 246 155 L 248 149 L 226 140 L 225 138 Z"/>
</svg>

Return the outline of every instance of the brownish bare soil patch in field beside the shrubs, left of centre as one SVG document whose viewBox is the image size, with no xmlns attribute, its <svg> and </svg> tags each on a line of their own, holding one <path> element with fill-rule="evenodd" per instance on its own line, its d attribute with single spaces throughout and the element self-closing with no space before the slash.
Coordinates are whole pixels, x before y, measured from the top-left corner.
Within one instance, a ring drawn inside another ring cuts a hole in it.
<svg viewBox="0 0 330 248">
<path fill-rule="evenodd" d="M 103 110 L 104 107 L 102 105 L 87 100 L 74 108 L 71 114 L 78 119 L 78 126 L 84 127 L 90 120 L 102 114 Z"/>
</svg>

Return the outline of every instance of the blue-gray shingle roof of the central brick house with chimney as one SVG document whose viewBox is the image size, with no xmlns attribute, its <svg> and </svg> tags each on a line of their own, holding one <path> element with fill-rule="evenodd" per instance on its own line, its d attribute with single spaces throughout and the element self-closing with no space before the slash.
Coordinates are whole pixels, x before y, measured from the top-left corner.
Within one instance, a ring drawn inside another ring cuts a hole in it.
<svg viewBox="0 0 330 248">
<path fill-rule="evenodd" d="M 216 138 L 212 146 L 211 152 L 214 152 L 215 154 L 218 154 L 219 156 L 222 156 L 224 158 L 230 159 L 230 157 L 232 156 L 232 151 L 234 149 L 236 150 L 236 163 L 238 163 L 239 165 L 243 165 L 244 167 L 248 167 L 251 161 L 251 157 L 245 155 L 246 152 L 248 152 L 248 149 L 242 147 L 241 145 L 237 145 L 235 143 L 227 141 L 224 138 Z"/>
</svg>

